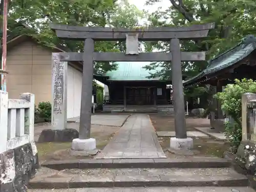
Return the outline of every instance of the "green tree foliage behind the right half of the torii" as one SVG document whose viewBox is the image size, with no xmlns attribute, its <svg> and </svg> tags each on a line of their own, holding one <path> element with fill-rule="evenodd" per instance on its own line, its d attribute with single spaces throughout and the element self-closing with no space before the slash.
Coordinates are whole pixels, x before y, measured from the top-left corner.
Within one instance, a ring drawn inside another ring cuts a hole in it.
<svg viewBox="0 0 256 192">
<path fill-rule="evenodd" d="M 159 0 L 148 0 L 154 4 Z M 256 2 L 254 0 L 169 0 L 166 10 L 156 11 L 150 17 L 152 26 L 187 26 L 215 22 L 204 40 L 181 41 L 182 51 L 207 51 L 207 59 L 236 45 L 247 34 L 256 34 Z M 147 49 L 169 51 L 169 42 L 147 45 Z M 170 75 L 169 62 L 156 62 L 148 69 L 166 69 L 158 76 Z M 194 76 L 207 66 L 207 62 L 183 62 L 183 73 Z"/>
</svg>

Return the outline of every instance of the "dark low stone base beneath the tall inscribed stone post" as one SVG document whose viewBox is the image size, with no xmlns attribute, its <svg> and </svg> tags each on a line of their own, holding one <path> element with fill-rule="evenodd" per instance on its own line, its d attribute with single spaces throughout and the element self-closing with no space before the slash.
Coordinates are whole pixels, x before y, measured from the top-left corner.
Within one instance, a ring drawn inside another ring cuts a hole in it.
<svg viewBox="0 0 256 192">
<path fill-rule="evenodd" d="M 75 129 L 63 130 L 42 130 L 37 143 L 45 142 L 72 142 L 73 139 L 78 138 L 79 133 Z"/>
</svg>

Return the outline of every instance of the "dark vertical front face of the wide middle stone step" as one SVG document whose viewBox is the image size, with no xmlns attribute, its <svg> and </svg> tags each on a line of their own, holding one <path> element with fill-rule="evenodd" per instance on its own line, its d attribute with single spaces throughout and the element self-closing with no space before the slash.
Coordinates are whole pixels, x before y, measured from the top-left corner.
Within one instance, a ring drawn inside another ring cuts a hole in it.
<svg viewBox="0 0 256 192">
<path fill-rule="evenodd" d="M 61 178 L 63 179 L 63 178 Z M 62 189 L 62 188 L 83 188 L 83 187 L 157 187 L 157 186 L 173 186 L 173 187 L 236 187 L 248 186 L 247 179 L 232 180 L 211 180 L 210 178 L 196 181 L 68 181 L 60 182 L 59 178 L 51 178 L 51 181 L 34 181 L 29 182 L 30 189 Z"/>
</svg>

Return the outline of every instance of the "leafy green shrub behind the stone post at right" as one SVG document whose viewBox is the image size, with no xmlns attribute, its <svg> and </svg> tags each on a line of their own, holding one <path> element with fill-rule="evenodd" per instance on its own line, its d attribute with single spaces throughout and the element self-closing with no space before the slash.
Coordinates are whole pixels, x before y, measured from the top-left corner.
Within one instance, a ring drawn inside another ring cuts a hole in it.
<svg viewBox="0 0 256 192">
<path fill-rule="evenodd" d="M 231 116 L 234 122 L 225 123 L 225 136 L 232 147 L 237 148 L 242 139 L 242 94 L 256 93 L 256 81 L 252 79 L 235 79 L 223 92 L 215 97 L 221 102 L 221 109 Z"/>
</svg>

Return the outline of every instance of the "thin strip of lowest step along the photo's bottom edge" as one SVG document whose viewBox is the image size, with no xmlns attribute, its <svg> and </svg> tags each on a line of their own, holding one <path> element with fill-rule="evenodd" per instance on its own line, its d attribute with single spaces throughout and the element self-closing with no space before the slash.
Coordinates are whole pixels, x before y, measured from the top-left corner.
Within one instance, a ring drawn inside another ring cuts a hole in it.
<svg viewBox="0 0 256 192">
<path fill-rule="evenodd" d="M 29 189 L 28 192 L 255 192 L 250 187 L 129 187 Z"/>
</svg>

